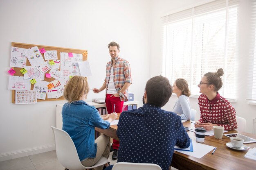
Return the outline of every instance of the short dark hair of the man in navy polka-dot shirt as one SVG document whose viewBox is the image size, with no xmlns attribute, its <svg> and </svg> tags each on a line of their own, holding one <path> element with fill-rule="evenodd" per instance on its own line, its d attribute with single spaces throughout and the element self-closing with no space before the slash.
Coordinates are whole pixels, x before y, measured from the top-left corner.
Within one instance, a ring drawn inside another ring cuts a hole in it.
<svg viewBox="0 0 256 170">
<path fill-rule="evenodd" d="M 145 90 L 147 92 L 147 103 L 157 107 L 163 107 L 173 93 L 173 87 L 169 80 L 163 76 L 150 78 Z"/>
</svg>

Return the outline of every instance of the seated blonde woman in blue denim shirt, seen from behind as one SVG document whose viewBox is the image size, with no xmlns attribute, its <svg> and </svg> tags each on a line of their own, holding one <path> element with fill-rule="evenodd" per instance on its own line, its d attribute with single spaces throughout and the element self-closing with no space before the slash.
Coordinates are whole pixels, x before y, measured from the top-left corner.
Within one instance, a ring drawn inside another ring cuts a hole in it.
<svg viewBox="0 0 256 170">
<path fill-rule="evenodd" d="M 90 88 L 83 76 L 70 78 L 64 89 L 67 103 L 62 108 L 63 131 L 73 140 L 79 159 L 83 166 L 93 166 L 101 156 L 108 159 L 110 152 L 110 138 L 100 135 L 94 141 L 95 127 L 108 129 L 110 122 L 117 118 L 117 113 L 108 114 L 101 118 L 94 106 L 85 102 Z M 108 166 L 109 164 L 105 164 Z M 94 168 L 102 170 L 103 166 Z"/>
</svg>

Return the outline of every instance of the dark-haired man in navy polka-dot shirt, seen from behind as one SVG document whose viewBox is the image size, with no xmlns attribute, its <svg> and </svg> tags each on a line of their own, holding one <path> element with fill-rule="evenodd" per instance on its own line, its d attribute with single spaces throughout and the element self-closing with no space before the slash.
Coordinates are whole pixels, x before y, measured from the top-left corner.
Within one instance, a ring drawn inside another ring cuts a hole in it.
<svg viewBox="0 0 256 170">
<path fill-rule="evenodd" d="M 120 141 L 117 162 L 155 163 L 162 170 L 168 170 L 174 146 L 189 147 L 190 138 L 180 116 L 161 109 L 172 91 L 167 78 L 150 78 L 143 96 L 143 107 L 121 113 L 117 125 Z"/>
</svg>

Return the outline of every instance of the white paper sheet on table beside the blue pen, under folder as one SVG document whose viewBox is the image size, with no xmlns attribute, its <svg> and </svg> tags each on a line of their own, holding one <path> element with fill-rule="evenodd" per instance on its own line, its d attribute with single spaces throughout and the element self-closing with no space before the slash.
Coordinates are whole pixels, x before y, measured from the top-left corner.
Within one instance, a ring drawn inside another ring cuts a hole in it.
<svg viewBox="0 0 256 170">
<path fill-rule="evenodd" d="M 193 144 L 193 150 L 194 150 L 193 152 L 188 152 L 186 150 L 175 150 L 175 151 L 200 159 L 201 157 L 203 157 L 204 155 L 206 155 L 207 153 L 209 153 L 211 150 L 215 148 L 213 146 L 200 144 L 195 140 L 193 140 L 192 144 Z"/>
</svg>

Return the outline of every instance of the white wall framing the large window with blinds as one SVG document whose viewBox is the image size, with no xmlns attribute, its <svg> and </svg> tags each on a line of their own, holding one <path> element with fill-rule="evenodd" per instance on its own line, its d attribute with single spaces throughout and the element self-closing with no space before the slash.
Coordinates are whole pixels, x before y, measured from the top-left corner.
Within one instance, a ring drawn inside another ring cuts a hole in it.
<svg viewBox="0 0 256 170">
<path fill-rule="evenodd" d="M 212 0 L 161 0 L 153 1 L 152 4 L 152 35 L 151 35 L 151 59 L 150 77 L 161 74 L 161 17 L 173 12 L 182 11 Z M 236 109 L 236 115 L 246 119 L 246 132 L 252 133 L 253 118 L 256 118 L 256 105 L 247 104 L 246 87 L 248 72 L 248 48 L 249 48 L 249 0 L 241 0 L 238 18 L 238 70 L 236 76 L 238 81 L 237 102 L 231 104 Z M 224 70 L 225 71 L 225 70 Z M 173 82 L 172 82 L 173 83 Z M 198 89 L 199 90 L 199 89 Z M 225 96 L 224 96 L 225 97 Z M 177 96 L 173 95 L 169 102 L 163 107 L 171 111 Z M 198 99 L 190 98 L 191 108 L 197 110 L 197 120 L 200 118 Z"/>
</svg>

